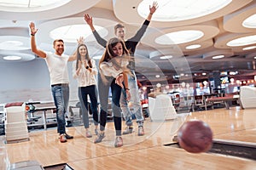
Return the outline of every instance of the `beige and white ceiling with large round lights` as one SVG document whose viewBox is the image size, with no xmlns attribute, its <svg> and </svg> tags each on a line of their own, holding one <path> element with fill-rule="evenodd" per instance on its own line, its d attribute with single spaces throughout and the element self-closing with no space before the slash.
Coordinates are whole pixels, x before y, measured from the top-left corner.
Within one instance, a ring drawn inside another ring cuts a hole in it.
<svg viewBox="0 0 256 170">
<path fill-rule="evenodd" d="M 65 53 L 73 54 L 77 39 L 84 37 L 91 57 L 101 56 L 104 48 L 96 42 L 84 14 L 93 17 L 96 31 L 106 40 L 115 36 L 113 26 L 119 22 L 125 25 L 126 38 L 130 38 L 142 26 L 154 0 L 31 2 L 0 0 L 0 62 L 37 59 L 30 49 L 28 25 L 31 21 L 38 28 L 38 48 L 53 51 L 53 40 L 61 38 L 65 41 Z M 138 43 L 137 56 L 154 60 L 166 72 L 172 72 L 177 63 L 170 65 L 170 62 L 178 58 L 188 61 L 192 71 L 224 69 L 218 62 L 230 65 L 227 68 L 247 69 L 255 60 L 255 1 L 161 0 L 157 3 L 158 8 Z M 216 55 L 224 58 L 212 59 Z M 6 56 L 20 59 L 3 59 Z M 236 59 L 240 65 L 230 59 Z M 142 65 L 138 69 L 154 71 L 146 67 Z"/>
</svg>

